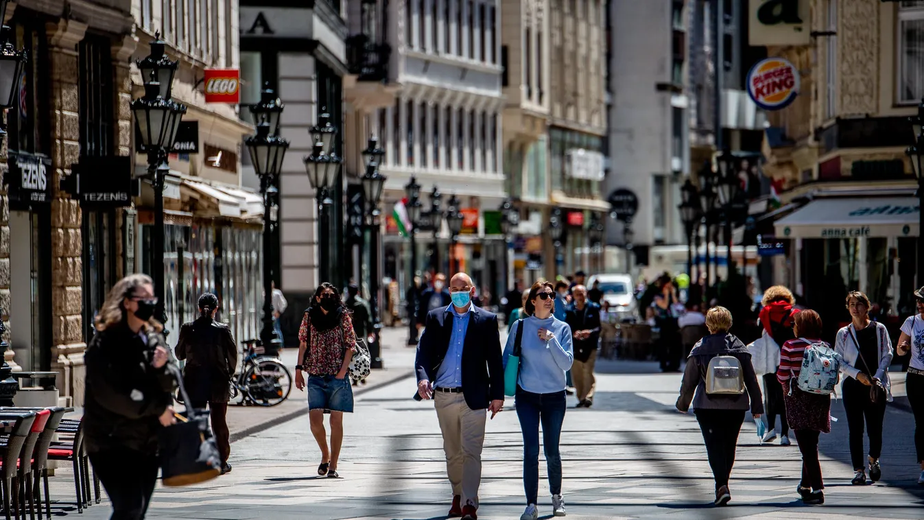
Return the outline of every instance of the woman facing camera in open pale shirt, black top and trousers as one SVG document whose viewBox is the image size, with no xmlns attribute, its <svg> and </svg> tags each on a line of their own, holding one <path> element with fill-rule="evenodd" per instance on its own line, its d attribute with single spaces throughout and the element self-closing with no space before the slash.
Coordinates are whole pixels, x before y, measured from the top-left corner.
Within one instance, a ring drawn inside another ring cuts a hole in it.
<svg viewBox="0 0 924 520">
<path fill-rule="evenodd" d="M 889 381 L 892 340 L 885 325 L 869 320 L 869 297 L 851 291 L 846 303 L 852 322 L 837 332 L 834 350 L 844 357 L 841 371 L 848 376 L 841 393 L 850 430 L 850 460 L 856 472 L 851 483 L 863 485 L 867 483 L 863 463 L 864 423 L 869 435 L 869 479 L 876 482 L 882 476 L 879 465 L 882 419 L 886 402 L 892 401 Z"/>
</svg>

